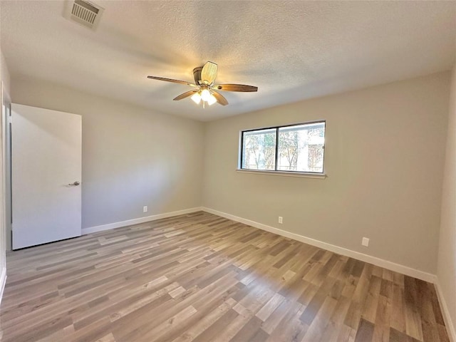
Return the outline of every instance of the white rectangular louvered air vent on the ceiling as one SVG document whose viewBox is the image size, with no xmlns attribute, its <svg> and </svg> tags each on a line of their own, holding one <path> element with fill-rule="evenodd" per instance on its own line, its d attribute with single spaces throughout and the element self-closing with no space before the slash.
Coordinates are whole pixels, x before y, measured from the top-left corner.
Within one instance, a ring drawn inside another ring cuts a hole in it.
<svg viewBox="0 0 456 342">
<path fill-rule="evenodd" d="M 67 1 L 65 16 L 95 30 L 100 22 L 104 9 L 85 0 Z"/>
</svg>

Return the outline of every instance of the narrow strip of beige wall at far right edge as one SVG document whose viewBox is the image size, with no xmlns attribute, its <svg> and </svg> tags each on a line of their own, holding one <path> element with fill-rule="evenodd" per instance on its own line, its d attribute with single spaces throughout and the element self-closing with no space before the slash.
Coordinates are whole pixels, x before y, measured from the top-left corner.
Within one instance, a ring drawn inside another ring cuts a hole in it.
<svg viewBox="0 0 456 342">
<path fill-rule="evenodd" d="M 454 334 L 456 327 L 456 66 L 452 71 L 447 152 L 442 189 L 437 279 L 452 320 L 452 333 Z M 456 341 L 456 336 L 453 338 Z"/>
</svg>

